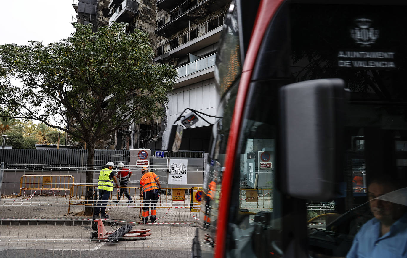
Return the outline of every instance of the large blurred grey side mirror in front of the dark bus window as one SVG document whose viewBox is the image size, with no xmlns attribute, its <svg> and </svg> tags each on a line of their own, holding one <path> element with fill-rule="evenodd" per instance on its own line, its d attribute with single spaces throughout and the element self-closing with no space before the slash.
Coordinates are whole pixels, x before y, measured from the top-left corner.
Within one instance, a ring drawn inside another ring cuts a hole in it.
<svg viewBox="0 0 407 258">
<path fill-rule="evenodd" d="M 335 175 L 343 166 L 345 97 L 341 79 L 309 80 L 279 90 L 280 169 L 286 194 L 313 200 L 334 197 Z"/>
</svg>

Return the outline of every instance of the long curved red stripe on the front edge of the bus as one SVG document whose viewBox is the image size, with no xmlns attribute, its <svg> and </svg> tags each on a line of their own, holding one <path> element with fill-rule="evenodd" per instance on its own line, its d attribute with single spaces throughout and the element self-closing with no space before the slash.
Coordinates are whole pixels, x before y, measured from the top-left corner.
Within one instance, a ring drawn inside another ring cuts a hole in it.
<svg viewBox="0 0 407 258">
<path fill-rule="evenodd" d="M 239 90 L 236 97 L 232 124 L 230 126 L 228 147 L 226 148 L 226 170 L 222 179 L 222 197 L 219 203 L 219 217 L 217 223 L 218 228 L 216 232 L 214 258 L 221 258 L 225 254 L 225 238 L 226 230 L 228 229 L 228 217 L 233 179 L 232 171 L 234 170 L 237 147 L 239 145 L 240 128 L 243 121 L 243 112 L 254 64 L 256 63 L 256 58 L 263 41 L 265 31 L 267 30 L 272 17 L 282 2 L 284 2 L 284 0 L 263 0 L 260 2 L 260 7 L 256 15 L 256 21 L 254 23 L 249 48 L 245 57 Z"/>
</svg>

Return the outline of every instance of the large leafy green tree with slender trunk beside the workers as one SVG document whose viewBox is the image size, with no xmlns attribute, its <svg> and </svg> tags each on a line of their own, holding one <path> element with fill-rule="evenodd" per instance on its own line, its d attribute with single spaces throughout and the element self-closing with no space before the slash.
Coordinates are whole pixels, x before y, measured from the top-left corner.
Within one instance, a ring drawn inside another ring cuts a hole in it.
<svg viewBox="0 0 407 258">
<path fill-rule="evenodd" d="M 125 24 L 116 23 L 96 33 L 90 24 L 75 28 L 70 37 L 46 46 L 1 45 L 0 103 L 20 112 L 16 118 L 35 119 L 85 141 L 92 165 L 98 139 L 124 124 L 164 115 L 177 72 L 152 63 L 154 52 L 142 30 L 126 34 Z M 11 85 L 13 77 L 22 85 Z M 90 169 L 86 183 L 93 183 Z"/>
</svg>

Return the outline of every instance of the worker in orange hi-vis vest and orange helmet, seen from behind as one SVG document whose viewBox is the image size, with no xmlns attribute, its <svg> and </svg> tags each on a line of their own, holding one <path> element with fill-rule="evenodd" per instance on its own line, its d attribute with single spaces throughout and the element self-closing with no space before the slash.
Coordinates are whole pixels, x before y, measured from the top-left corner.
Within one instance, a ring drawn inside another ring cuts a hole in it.
<svg viewBox="0 0 407 258">
<path fill-rule="evenodd" d="M 147 167 L 141 169 L 143 176 L 140 179 L 140 197 L 143 199 L 142 222 L 147 223 L 149 208 L 151 208 L 151 223 L 155 222 L 155 205 L 161 193 L 159 177 L 154 172 L 149 172 Z"/>
</svg>

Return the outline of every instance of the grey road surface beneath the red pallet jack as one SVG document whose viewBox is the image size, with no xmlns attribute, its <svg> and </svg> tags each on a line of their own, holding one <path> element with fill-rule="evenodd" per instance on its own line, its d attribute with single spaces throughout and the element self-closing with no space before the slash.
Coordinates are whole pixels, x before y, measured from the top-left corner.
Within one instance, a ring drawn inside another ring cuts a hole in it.
<svg viewBox="0 0 407 258">
<path fill-rule="evenodd" d="M 118 228 L 106 226 L 107 230 Z M 134 227 L 135 229 L 136 227 Z M 90 241 L 90 226 L 0 226 L 0 257 L 190 257 L 195 226 L 149 226 L 151 236 L 111 244 Z"/>
</svg>

